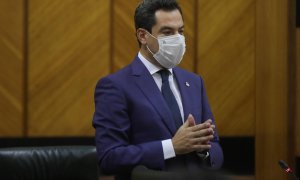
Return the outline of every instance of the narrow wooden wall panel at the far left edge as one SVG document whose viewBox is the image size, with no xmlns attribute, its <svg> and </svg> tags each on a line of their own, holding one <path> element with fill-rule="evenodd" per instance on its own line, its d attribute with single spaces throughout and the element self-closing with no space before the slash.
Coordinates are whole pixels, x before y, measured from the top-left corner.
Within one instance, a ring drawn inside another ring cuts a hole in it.
<svg viewBox="0 0 300 180">
<path fill-rule="evenodd" d="M 0 1 L 0 137 L 21 136 L 24 115 L 24 1 Z"/>
</svg>

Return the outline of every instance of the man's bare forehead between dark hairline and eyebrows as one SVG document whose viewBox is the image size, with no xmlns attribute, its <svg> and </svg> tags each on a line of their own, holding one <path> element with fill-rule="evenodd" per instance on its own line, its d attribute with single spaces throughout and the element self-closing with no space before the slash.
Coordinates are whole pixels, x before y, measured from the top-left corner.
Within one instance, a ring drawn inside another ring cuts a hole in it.
<svg viewBox="0 0 300 180">
<path fill-rule="evenodd" d="M 178 9 L 173 11 L 158 10 L 155 12 L 156 24 L 154 27 L 180 28 L 183 26 L 183 19 Z"/>
</svg>

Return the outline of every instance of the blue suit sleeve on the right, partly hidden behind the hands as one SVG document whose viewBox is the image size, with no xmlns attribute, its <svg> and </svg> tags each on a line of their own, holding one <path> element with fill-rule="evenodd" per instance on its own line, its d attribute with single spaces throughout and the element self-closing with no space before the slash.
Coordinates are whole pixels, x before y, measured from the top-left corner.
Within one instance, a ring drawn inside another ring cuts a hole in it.
<svg viewBox="0 0 300 180">
<path fill-rule="evenodd" d="M 201 79 L 201 96 L 202 96 L 202 121 L 206 121 L 207 119 L 212 119 L 213 123 L 214 122 L 214 117 L 213 114 L 211 112 L 209 103 L 208 103 L 208 98 L 206 95 L 206 90 L 205 90 L 205 86 L 204 86 L 204 82 Z M 214 139 L 211 141 L 211 149 L 209 150 L 209 154 L 210 154 L 210 159 L 209 159 L 209 165 L 213 168 L 213 169 L 219 169 L 221 168 L 222 164 L 223 164 L 223 151 L 222 148 L 219 144 L 219 136 L 217 134 L 217 131 L 215 130 L 215 134 L 214 134 Z"/>
</svg>

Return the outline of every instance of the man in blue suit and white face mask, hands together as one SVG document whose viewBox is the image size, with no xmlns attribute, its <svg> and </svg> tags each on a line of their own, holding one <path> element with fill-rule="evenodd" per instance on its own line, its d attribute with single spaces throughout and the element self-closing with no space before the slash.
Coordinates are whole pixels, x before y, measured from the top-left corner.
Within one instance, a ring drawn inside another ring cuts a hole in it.
<svg viewBox="0 0 300 180">
<path fill-rule="evenodd" d="M 95 90 L 99 166 L 130 179 L 137 165 L 164 171 L 218 169 L 223 153 L 203 80 L 176 67 L 185 53 L 176 0 L 143 0 L 135 11 L 140 51 Z"/>
</svg>

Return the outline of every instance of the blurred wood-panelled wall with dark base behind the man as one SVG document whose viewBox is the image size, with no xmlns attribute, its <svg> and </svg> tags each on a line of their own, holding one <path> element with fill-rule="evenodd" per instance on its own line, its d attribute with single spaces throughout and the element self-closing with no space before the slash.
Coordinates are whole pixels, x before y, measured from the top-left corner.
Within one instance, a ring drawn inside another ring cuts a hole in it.
<svg viewBox="0 0 300 180">
<path fill-rule="evenodd" d="M 139 0 L 0 1 L 0 147 L 93 144 L 97 81 L 138 52 Z M 179 0 L 187 52 L 224 168 L 288 179 L 300 168 L 299 0 Z"/>
</svg>

